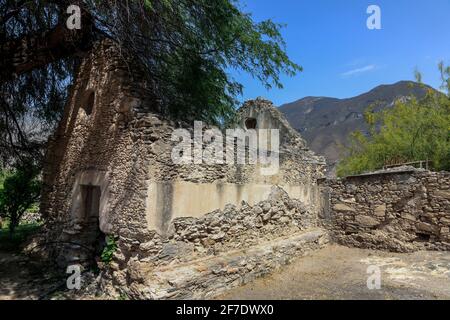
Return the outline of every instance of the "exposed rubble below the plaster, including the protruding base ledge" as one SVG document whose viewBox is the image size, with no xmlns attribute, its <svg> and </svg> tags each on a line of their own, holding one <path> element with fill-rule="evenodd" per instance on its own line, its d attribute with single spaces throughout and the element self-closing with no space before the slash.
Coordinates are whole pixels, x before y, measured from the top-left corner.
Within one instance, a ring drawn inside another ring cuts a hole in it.
<svg viewBox="0 0 450 320">
<path fill-rule="evenodd" d="M 133 298 L 213 296 L 325 244 L 318 224 L 315 212 L 274 187 L 254 206 L 176 218 L 166 235 L 155 232 L 145 243 L 120 239 L 106 278 Z M 297 241 L 310 230 L 319 231 Z"/>
</svg>

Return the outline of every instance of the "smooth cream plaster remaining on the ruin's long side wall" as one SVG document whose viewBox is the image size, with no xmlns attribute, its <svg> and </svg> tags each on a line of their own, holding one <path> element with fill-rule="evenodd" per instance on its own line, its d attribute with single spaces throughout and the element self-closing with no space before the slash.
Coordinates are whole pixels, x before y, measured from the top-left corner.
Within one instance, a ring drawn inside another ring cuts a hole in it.
<svg viewBox="0 0 450 320">
<path fill-rule="evenodd" d="M 186 181 L 149 182 L 146 217 L 148 228 L 164 234 L 176 218 L 199 218 L 226 205 L 240 207 L 269 197 L 273 185 L 234 183 L 193 183 Z M 291 198 L 311 208 L 320 205 L 317 185 L 282 185 Z"/>
</svg>

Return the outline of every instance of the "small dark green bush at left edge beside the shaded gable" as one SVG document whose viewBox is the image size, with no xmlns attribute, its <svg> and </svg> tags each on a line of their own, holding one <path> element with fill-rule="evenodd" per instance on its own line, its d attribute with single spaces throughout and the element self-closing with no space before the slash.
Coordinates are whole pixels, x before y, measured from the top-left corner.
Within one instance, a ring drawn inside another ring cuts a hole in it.
<svg viewBox="0 0 450 320">
<path fill-rule="evenodd" d="M 41 183 L 38 169 L 30 163 L 21 165 L 4 175 L 0 188 L 0 217 L 9 221 L 11 234 L 23 214 L 35 206 L 40 196 Z"/>
</svg>

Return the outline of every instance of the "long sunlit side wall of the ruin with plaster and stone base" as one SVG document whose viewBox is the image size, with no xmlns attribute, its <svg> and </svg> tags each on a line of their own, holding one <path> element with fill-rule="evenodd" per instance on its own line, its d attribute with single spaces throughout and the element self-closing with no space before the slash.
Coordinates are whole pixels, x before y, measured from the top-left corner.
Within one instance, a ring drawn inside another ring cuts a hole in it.
<svg viewBox="0 0 450 320">
<path fill-rule="evenodd" d="M 136 138 L 149 147 L 148 234 L 145 240 L 119 234 L 119 250 L 105 274 L 130 297 L 214 296 L 326 243 L 327 234 L 320 229 L 302 235 L 318 227 L 320 157 L 307 151 L 281 154 L 274 176 L 261 175 L 255 165 L 175 165 L 171 150 L 177 142 L 171 133 L 183 124 L 157 115 L 146 115 L 139 123 Z M 189 129 L 188 124 L 183 127 Z M 270 195 L 275 185 L 301 192 Z M 225 192 L 228 187 L 233 191 Z M 215 203 L 212 212 L 198 210 L 214 197 L 211 190 L 222 194 L 221 205 Z M 249 201 L 245 194 L 252 192 L 258 194 Z M 151 214 L 152 207 L 160 214 Z"/>
</svg>

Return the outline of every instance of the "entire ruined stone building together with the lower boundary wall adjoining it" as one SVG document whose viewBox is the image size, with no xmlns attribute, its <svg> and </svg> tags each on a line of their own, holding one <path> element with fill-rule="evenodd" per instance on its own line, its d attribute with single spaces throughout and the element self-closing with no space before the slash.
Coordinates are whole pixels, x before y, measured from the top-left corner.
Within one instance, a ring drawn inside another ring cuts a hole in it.
<svg viewBox="0 0 450 320">
<path fill-rule="evenodd" d="M 104 291 L 211 298 L 329 241 L 450 249 L 449 173 L 325 179 L 324 159 L 261 98 L 244 104 L 236 126 L 279 130 L 276 174 L 261 174 L 261 164 L 174 164 L 172 134 L 193 123 L 163 115 L 142 79 L 114 45 L 98 43 L 81 64 L 43 173 L 44 253 L 61 267 L 88 264 L 114 238 Z"/>
</svg>

